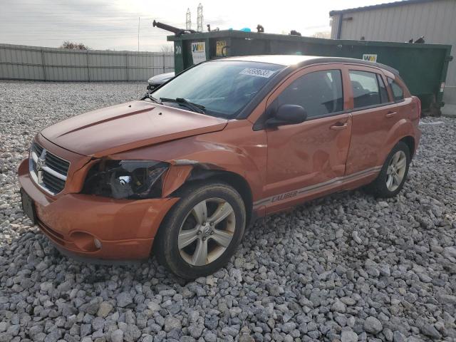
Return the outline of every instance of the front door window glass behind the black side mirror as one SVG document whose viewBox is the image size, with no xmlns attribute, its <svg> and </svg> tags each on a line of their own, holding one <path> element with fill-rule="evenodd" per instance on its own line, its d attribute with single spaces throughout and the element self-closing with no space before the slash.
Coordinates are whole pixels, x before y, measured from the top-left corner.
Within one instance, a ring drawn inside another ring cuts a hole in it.
<svg viewBox="0 0 456 342">
<path fill-rule="evenodd" d="M 301 105 L 308 118 L 343 110 L 340 70 L 307 73 L 291 83 L 276 99 L 277 105 Z"/>
</svg>

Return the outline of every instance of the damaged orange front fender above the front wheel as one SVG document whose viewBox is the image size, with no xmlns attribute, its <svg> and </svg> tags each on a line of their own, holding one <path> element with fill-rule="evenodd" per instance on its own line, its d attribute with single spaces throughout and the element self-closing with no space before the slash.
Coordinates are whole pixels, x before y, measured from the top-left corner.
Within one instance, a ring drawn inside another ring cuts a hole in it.
<svg viewBox="0 0 456 342">
<path fill-rule="evenodd" d="M 141 147 L 113 155 L 115 159 L 161 160 L 170 163 L 163 196 L 185 183 L 195 167 L 232 172 L 247 181 L 253 199 L 261 198 L 266 178 L 267 143 L 264 131 L 254 132 L 247 120 L 229 123 L 221 132 Z"/>
</svg>

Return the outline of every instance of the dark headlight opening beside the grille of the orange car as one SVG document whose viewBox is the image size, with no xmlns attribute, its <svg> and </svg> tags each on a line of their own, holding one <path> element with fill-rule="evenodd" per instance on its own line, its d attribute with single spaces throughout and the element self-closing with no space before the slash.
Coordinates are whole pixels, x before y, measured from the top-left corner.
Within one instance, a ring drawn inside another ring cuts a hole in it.
<svg viewBox="0 0 456 342">
<path fill-rule="evenodd" d="M 155 160 L 102 160 L 88 172 L 83 193 L 115 199 L 160 197 L 168 167 Z"/>
</svg>

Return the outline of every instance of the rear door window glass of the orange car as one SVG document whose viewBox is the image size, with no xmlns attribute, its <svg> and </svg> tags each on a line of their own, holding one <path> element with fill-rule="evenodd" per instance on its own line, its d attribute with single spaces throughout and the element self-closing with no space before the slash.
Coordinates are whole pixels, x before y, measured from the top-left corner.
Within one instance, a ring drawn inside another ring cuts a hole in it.
<svg viewBox="0 0 456 342">
<path fill-rule="evenodd" d="M 378 88 L 377 74 L 368 71 L 349 71 L 353 88 L 353 102 L 355 108 L 379 105 L 382 103 Z"/>
</svg>

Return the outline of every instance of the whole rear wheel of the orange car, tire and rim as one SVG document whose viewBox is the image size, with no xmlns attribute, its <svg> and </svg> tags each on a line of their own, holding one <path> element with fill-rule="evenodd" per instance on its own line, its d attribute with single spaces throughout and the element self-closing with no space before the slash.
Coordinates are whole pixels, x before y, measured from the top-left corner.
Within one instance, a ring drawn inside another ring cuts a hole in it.
<svg viewBox="0 0 456 342">
<path fill-rule="evenodd" d="M 375 197 L 393 197 L 400 192 L 408 175 L 410 150 L 398 142 L 385 160 L 378 177 L 366 189 Z"/>
</svg>

